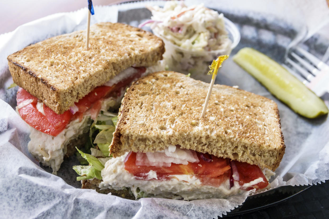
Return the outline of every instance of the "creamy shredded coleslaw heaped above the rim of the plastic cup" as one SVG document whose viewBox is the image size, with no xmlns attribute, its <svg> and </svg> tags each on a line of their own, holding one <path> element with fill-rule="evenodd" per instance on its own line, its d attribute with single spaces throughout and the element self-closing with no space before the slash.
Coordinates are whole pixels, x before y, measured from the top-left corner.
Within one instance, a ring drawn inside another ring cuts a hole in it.
<svg viewBox="0 0 329 219">
<path fill-rule="evenodd" d="M 164 8 L 148 6 L 151 29 L 174 45 L 192 51 L 220 50 L 229 44 L 223 14 L 204 7 L 203 4 L 186 6 L 184 2 L 169 1 Z"/>
</svg>

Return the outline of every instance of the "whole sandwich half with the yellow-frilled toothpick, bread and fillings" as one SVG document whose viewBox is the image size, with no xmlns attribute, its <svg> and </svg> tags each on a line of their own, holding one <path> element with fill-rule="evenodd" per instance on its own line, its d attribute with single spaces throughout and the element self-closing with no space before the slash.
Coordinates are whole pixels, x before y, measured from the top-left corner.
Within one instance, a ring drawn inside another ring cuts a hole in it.
<svg viewBox="0 0 329 219">
<path fill-rule="evenodd" d="M 216 84 L 201 118 L 208 88 L 166 71 L 134 82 L 119 110 L 112 157 L 93 152 L 100 165 L 89 158 L 84 168 L 100 173 L 80 166 L 83 187 L 184 200 L 265 189 L 285 152 L 276 103 Z"/>
</svg>

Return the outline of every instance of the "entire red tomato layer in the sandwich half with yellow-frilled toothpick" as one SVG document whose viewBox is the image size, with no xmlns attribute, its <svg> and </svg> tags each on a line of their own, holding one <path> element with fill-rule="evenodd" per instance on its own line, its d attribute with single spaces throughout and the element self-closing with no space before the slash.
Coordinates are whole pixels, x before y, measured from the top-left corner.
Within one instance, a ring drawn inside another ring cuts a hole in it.
<svg viewBox="0 0 329 219">
<path fill-rule="evenodd" d="M 131 152 L 125 159 L 124 168 L 129 173 L 133 174 L 137 179 L 147 180 L 147 173 L 153 170 L 157 173 L 158 180 L 171 179 L 171 175 L 195 175 L 203 185 L 220 186 L 224 181 L 230 179 L 231 166 L 229 159 L 218 158 L 211 156 L 211 162 L 206 162 L 200 157 L 200 153 L 196 152 L 199 158 L 198 163 L 173 164 L 170 167 L 157 166 L 138 166 L 136 165 L 136 153 Z M 145 154 L 145 159 L 147 158 Z M 240 175 L 239 184 L 241 189 L 250 190 L 253 188 L 262 189 L 268 185 L 262 170 L 257 165 L 251 165 L 242 162 L 235 162 Z M 263 178 L 264 182 L 258 183 L 248 188 L 243 187 L 245 183 L 249 183 L 259 177 Z"/>
</svg>

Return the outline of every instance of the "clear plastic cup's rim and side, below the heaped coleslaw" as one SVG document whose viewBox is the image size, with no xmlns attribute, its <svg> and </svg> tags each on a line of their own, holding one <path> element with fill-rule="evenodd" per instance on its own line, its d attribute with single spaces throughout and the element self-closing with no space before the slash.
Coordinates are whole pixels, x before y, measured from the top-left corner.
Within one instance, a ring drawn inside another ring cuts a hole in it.
<svg viewBox="0 0 329 219">
<path fill-rule="evenodd" d="M 208 73 L 209 65 L 219 55 L 230 55 L 232 49 L 240 42 L 240 32 L 232 21 L 225 17 L 223 19 L 228 36 L 219 50 L 187 50 L 173 44 L 159 34 L 157 29 L 153 29 L 153 33 L 162 38 L 165 44 L 163 57 L 166 70 L 184 74 L 190 73 L 192 77 L 203 76 Z"/>
</svg>

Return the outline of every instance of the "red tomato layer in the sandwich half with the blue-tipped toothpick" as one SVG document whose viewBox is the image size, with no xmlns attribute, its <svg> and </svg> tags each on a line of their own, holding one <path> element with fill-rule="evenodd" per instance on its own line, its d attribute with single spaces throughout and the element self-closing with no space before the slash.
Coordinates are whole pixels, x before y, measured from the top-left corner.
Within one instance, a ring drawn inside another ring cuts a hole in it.
<svg viewBox="0 0 329 219">
<path fill-rule="evenodd" d="M 93 120 L 96 119 L 101 106 L 102 99 L 104 97 L 115 95 L 117 92 L 121 92 L 123 86 L 129 85 L 133 80 L 139 78 L 142 73 L 145 72 L 145 67 L 135 67 L 136 74 L 126 78 L 123 81 L 109 87 L 99 86 L 91 91 L 88 95 L 80 99 L 75 105 L 78 107 L 78 111 L 73 115 L 70 110 L 65 111 L 63 114 L 57 114 L 45 104 L 43 104 L 44 114 L 40 113 L 37 109 L 38 98 L 25 91 L 23 88 L 19 88 L 17 92 L 17 105 L 20 103 L 24 104 L 24 101 L 32 99 L 33 101 L 26 106 L 23 106 L 18 110 L 22 119 L 33 128 L 44 132 L 46 134 L 57 136 L 62 132 L 66 125 L 73 119 L 83 118 L 84 113 L 90 109 L 91 117 Z M 30 111 L 30 112 L 29 112 Z"/>
</svg>

